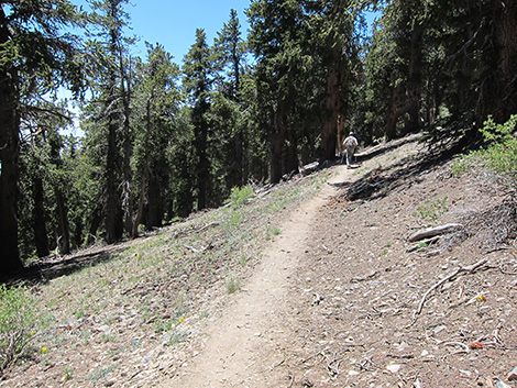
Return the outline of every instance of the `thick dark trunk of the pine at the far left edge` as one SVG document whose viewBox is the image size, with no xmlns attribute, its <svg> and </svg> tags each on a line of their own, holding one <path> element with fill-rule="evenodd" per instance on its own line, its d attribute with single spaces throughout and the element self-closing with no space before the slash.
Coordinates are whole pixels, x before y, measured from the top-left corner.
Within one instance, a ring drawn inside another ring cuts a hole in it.
<svg viewBox="0 0 517 388">
<path fill-rule="evenodd" d="M 0 8 L 0 44 L 10 36 L 6 15 Z M 18 179 L 19 133 L 18 74 L 14 67 L 0 68 L 0 246 L 2 258 L 0 274 L 11 274 L 23 268 L 18 248 Z"/>
</svg>

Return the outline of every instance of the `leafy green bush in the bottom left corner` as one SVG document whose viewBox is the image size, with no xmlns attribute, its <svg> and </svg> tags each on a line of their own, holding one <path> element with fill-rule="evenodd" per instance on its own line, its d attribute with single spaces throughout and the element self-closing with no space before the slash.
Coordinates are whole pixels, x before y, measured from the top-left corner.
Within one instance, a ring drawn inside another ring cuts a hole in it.
<svg viewBox="0 0 517 388">
<path fill-rule="evenodd" d="M 0 375 L 20 357 L 29 355 L 41 321 L 35 302 L 24 287 L 0 287 Z"/>
</svg>

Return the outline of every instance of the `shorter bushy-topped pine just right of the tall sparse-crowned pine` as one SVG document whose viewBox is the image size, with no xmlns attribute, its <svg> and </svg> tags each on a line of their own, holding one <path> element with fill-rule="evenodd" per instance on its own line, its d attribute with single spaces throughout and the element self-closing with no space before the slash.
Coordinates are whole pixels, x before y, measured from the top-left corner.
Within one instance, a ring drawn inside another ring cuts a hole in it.
<svg viewBox="0 0 517 388">
<path fill-rule="evenodd" d="M 140 180 L 133 237 L 138 235 L 145 206 L 147 229 L 162 226 L 164 219 L 164 197 L 172 175 L 166 155 L 170 142 L 178 137 L 175 136 L 180 99 L 178 74 L 178 66 L 164 47 L 147 43 L 147 63 L 141 64 L 136 74 L 135 121 L 142 124 L 136 126 L 132 163 Z"/>
</svg>

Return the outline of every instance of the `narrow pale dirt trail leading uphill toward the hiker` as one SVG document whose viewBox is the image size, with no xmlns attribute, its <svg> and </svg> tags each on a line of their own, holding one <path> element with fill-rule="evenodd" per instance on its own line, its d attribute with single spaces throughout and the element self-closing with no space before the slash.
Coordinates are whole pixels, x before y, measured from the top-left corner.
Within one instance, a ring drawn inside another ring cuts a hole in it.
<svg viewBox="0 0 517 388">
<path fill-rule="evenodd" d="M 265 383 L 265 369 L 283 362 L 277 341 L 272 339 L 284 334 L 282 317 L 289 308 L 289 279 L 306 253 L 311 223 L 336 195 L 333 184 L 351 176 L 352 170 L 337 166 L 329 184 L 284 221 L 282 233 L 264 252 L 255 274 L 226 311 L 209 323 L 201 353 L 164 386 L 257 387 Z"/>
</svg>

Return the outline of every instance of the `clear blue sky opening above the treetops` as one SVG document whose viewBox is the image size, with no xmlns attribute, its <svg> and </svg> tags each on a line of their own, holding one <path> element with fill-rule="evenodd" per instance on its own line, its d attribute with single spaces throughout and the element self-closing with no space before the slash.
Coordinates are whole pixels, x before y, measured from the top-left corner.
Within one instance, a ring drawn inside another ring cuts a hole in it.
<svg viewBox="0 0 517 388">
<path fill-rule="evenodd" d="M 86 0 L 72 2 L 87 9 Z M 251 0 L 130 0 L 125 11 L 131 16 L 131 33 L 140 38 L 134 54 L 145 58 L 144 41 L 161 43 L 174 60 L 182 64 L 196 40 L 196 29 L 205 30 L 211 45 L 217 32 L 230 20 L 231 9 L 238 12 L 242 36 L 245 37 L 248 22 L 244 10 L 250 3 Z"/>
</svg>

